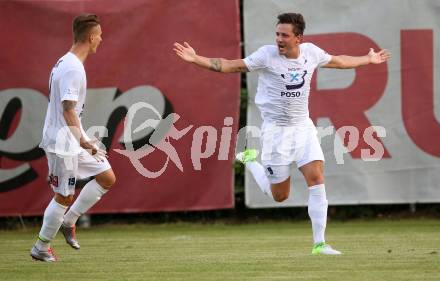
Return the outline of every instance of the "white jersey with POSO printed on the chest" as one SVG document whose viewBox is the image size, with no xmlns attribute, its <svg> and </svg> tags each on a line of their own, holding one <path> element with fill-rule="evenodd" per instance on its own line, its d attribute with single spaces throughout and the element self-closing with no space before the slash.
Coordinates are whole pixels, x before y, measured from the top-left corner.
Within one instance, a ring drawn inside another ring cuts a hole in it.
<svg viewBox="0 0 440 281">
<path fill-rule="evenodd" d="M 280 55 L 275 45 L 265 45 L 243 59 L 249 71 L 258 71 L 255 104 L 264 121 L 294 126 L 309 118 L 313 71 L 327 64 L 331 55 L 312 43 L 299 47 L 297 59 Z"/>
</svg>

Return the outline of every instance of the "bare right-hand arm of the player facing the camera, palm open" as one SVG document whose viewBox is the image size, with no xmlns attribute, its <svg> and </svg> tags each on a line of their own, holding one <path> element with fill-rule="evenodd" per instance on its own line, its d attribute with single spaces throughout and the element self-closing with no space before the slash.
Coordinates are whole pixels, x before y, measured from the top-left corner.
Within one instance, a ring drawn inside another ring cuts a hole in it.
<svg viewBox="0 0 440 281">
<path fill-rule="evenodd" d="M 379 52 L 375 52 L 372 48 L 365 56 L 352 57 L 352 56 L 332 56 L 329 63 L 323 65 L 326 68 L 355 68 L 367 64 L 379 64 L 386 62 L 391 57 L 388 50 L 382 49 Z"/>
</svg>

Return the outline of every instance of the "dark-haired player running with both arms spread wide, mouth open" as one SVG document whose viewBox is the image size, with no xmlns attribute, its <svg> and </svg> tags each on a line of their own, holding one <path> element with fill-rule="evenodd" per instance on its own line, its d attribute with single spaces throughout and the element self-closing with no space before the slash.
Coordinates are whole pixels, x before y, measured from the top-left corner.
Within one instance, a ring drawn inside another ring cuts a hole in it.
<svg viewBox="0 0 440 281">
<path fill-rule="evenodd" d="M 305 21 L 299 13 L 284 13 L 276 24 L 276 45 L 266 45 L 245 59 L 228 60 L 197 55 L 187 43 L 174 43 L 184 61 L 217 72 L 257 71 L 255 103 L 263 119 L 261 160 L 257 151 L 237 155 L 250 170 L 259 188 L 282 202 L 289 197 L 290 173 L 295 162 L 309 187 L 308 213 L 312 221 L 312 254 L 339 255 L 325 242 L 327 207 L 324 154 L 317 130 L 309 117 L 310 82 L 318 67 L 355 68 L 387 61 L 387 50 L 370 49 L 364 56 L 330 55 L 312 43 L 303 43 Z"/>
</svg>

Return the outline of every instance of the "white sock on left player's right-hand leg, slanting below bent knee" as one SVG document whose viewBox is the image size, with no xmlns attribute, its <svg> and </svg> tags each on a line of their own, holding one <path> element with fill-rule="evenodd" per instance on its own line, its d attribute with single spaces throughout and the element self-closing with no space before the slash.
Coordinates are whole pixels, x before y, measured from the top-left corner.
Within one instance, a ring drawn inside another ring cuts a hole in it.
<svg viewBox="0 0 440 281">
<path fill-rule="evenodd" d="M 89 181 L 64 216 L 63 224 L 66 226 L 74 226 L 78 218 L 93 207 L 107 191 L 108 190 L 102 188 L 95 179 Z"/>
</svg>

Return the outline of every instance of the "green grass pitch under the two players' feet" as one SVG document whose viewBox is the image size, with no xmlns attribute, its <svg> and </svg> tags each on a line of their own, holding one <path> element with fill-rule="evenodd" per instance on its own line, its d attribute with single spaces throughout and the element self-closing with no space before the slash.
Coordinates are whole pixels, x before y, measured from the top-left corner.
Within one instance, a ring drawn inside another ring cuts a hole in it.
<svg viewBox="0 0 440 281">
<path fill-rule="evenodd" d="M 59 261 L 29 256 L 38 229 L 0 231 L 0 280 L 440 280 L 440 220 L 330 222 L 342 256 L 312 256 L 306 222 L 105 225 L 59 234 Z"/>
</svg>

